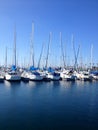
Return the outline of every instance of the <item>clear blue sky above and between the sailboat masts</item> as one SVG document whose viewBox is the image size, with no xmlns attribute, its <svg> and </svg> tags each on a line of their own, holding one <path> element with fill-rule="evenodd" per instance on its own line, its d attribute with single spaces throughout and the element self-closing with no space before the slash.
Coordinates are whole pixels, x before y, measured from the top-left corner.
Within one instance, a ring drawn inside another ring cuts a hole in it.
<svg viewBox="0 0 98 130">
<path fill-rule="evenodd" d="M 74 35 L 76 50 L 80 44 L 83 63 L 90 63 L 93 44 L 93 62 L 98 63 L 98 0 L 0 0 L 0 64 L 5 63 L 8 47 L 8 64 L 12 63 L 14 25 L 17 33 L 18 63 L 29 63 L 30 33 L 34 22 L 34 53 L 37 64 L 43 42 L 42 65 L 45 64 L 49 32 L 52 32 L 49 64 L 60 65 L 60 36 L 66 52 L 67 64 L 72 64 L 74 53 L 71 37 Z M 61 62 L 61 63 L 60 63 Z"/>
</svg>

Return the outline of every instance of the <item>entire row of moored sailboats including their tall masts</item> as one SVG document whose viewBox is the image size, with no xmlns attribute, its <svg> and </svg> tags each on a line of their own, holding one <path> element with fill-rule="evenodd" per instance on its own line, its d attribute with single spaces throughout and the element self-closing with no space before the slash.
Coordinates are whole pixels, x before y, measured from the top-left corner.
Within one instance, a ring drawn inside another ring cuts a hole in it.
<svg viewBox="0 0 98 130">
<path fill-rule="evenodd" d="M 13 42 L 13 51 L 12 56 L 12 65 L 8 66 L 8 56 L 9 53 L 7 52 L 7 47 L 5 51 L 5 64 L 0 68 L 0 81 L 3 80 L 7 81 L 59 81 L 59 80 L 66 80 L 66 81 L 93 81 L 98 80 L 98 67 L 93 63 L 93 45 L 91 45 L 91 52 L 90 52 L 90 64 L 88 66 L 84 63 L 79 64 L 79 53 L 80 53 L 80 45 L 75 48 L 75 41 L 72 35 L 72 50 L 73 50 L 73 64 L 70 66 L 66 63 L 66 56 L 64 52 L 64 46 L 62 43 L 62 33 L 60 32 L 60 54 L 61 54 L 61 62 L 57 63 L 56 65 L 52 63 L 50 66 L 50 46 L 52 42 L 52 33 L 49 33 L 49 41 L 47 44 L 47 51 L 45 54 L 44 59 L 44 66 L 41 65 L 41 59 L 43 56 L 43 46 L 41 52 L 39 53 L 39 60 L 35 62 L 35 52 L 34 52 L 34 22 L 32 23 L 32 31 L 31 31 L 31 40 L 30 40 L 30 61 L 28 66 L 25 63 L 21 66 L 18 62 L 17 57 L 17 42 L 16 42 L 16 26 L 14 28 L 14 42 Z M 58 56 L 58 54 L 56 54 Z M 58 58 L 60 58 L 58 56 Z M 25 59 L 26 61 L 27 59 Z M 53 59 L 52 59 L 53 60 Z M 58 64 L 61 64 L 58 65 Z"/>
</svg>

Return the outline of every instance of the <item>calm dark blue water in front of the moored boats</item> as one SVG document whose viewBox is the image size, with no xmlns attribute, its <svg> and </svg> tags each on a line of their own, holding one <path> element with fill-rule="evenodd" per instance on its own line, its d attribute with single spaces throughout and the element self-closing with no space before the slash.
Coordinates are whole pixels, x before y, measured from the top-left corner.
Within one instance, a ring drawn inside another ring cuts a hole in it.
<svg viewBox="0 0 98 130">
<path fill-rule="evenodd" d="M 98 129 L 98 82 L 0 83 L 0 130 Z"/>
</svg>

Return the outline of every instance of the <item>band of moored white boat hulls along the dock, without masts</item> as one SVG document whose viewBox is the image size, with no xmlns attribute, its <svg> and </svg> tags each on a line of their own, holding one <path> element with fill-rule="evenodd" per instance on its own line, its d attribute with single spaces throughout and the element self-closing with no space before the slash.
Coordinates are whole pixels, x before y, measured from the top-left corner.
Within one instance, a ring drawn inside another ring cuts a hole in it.
<svg viewBox="0 0 98 130">
<path fill-rule="evenodd" d="M 15 67 L 15 66 L 14 66 Z M 12 69 L 14 68 L 12 67 Z M 34 69 L 18 69 L 14 68 L 13 70 L 1 69 L 0 82 L 7 80 L 11 81 L 97 81 L 98 80 L 98 71 L 74 71 L 66 69 L 53 69 L 49 68 L 48 70 L 39 70 Z"/>
</svg>

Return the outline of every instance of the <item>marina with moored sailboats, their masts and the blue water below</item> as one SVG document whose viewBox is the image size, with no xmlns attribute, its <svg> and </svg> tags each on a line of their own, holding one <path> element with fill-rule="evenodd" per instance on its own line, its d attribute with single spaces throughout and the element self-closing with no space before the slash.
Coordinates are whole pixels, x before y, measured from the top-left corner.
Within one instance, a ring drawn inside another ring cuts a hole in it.
<svg viewBox="0 0 98 130">
<path fill-rule="evenodd" d="M 74 62 L 71 66 L 66 65 L 60 32 L 62 64 L 50 65 L 50 32 L 42 66 L 43 47 L 35 62 L 33 33 L 34 23 L 28 66 L 17 64 L 16 29 L 10 65 L 7 64 L 6 48 L 5 64 L 0 67 L 0 129 L 97 130 L 98 67 L 92 61 L 92 48 L 90 66 L 81 66 L 78 64 L 80 46 L 76 51 L 73 41 Z"/>
</svg>

